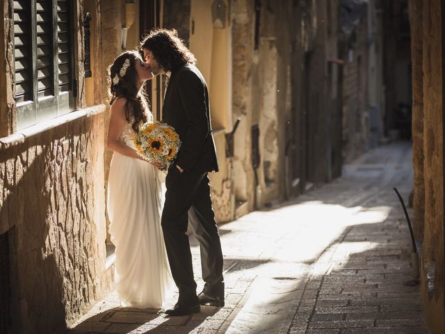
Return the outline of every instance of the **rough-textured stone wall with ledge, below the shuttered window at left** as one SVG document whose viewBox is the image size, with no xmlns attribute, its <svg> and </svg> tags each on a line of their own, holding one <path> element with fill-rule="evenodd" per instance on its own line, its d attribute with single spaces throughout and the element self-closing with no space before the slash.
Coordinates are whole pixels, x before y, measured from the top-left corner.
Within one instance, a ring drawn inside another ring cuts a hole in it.
<svg viewBox="0 0 445 334">
<path fill-rule="evenodd" d="M 103 110 L 0 139 L 0 232 L 9 236 L 15 333 L 63 333 L 102 296 Z"/>
</svg>

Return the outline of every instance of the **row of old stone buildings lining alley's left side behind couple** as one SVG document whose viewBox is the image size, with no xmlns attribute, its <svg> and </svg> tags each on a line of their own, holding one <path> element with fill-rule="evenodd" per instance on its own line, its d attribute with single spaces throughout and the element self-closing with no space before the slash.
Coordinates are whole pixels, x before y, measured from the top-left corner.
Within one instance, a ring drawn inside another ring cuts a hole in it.
<svg viewBox="0 0 445 334">
<path fill-rule="evenodd" d="M 378 143 L 382 7 L 360 5 L 354 45 L 349 2 L 3 1 L 0 333 L 63 333 L 111 289 L 107 69 L 150 29 L 177 29 L 209 86 L 219 223 L 329 182 Z M 156 119 L 165 85 L 147 83 Z"/>
</svg>

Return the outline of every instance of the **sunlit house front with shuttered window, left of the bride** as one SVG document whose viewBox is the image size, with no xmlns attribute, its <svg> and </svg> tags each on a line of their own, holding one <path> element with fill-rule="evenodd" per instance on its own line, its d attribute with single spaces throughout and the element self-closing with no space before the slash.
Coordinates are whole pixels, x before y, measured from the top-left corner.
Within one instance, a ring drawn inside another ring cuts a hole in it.
<svg viewBox="0 0 445 334">
<path fill-rule="evenodd" d="M 1 333 L 61 333 L 111 281 L 105 107 L 86 95 L 102 74 L 87 82 L 81 1 L 11 0 L 0 11 Z"/>
</svg>

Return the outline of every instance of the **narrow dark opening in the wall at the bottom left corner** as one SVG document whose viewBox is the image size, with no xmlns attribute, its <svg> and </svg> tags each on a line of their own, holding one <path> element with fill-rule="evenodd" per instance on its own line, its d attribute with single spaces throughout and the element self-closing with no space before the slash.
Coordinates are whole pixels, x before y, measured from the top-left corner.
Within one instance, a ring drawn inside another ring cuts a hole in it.
<svg viewBox="0 0 445 334">
<path fill-rule="evenodd" d="M 8 233 L 0 234 L 0 334 L 10 329 L 10 263 Z"/>
</svg>

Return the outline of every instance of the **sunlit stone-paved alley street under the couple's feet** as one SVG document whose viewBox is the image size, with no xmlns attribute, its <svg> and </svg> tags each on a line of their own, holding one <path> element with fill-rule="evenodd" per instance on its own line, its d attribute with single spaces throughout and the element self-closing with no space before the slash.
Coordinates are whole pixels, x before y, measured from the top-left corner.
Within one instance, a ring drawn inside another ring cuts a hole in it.
<svg viewBox="0 0 445 334">
<path fill-rule="evenodd" d="M 220 225 L 224 308 L 166 317 L 121 308 L 113 292 L 70 333 L 426 333 L 419 285 L 405 284 L 412 246 L 394 187 L 407 204 L 410 143 L 371 150 L 330 184 Z M 199 246 L 191 244 L 200 292 Z"/>
</svg>

